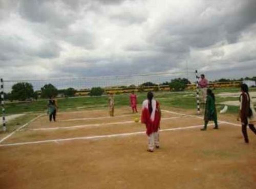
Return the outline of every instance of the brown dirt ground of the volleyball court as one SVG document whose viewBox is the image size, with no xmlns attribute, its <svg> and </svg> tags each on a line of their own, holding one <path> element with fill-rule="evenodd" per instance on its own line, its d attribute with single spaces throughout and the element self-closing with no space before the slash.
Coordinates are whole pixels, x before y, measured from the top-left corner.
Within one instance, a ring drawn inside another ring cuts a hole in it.
<svg viewBox="0 0 256 189">
<path fill-rule="evenodd" d="M 139 114 L 131 114 L 129 108 L 116 109 L 116 115 L 106 117 L 106 110 L 59 113 L 56 123 L 49 123 L 45 115 L 2 145 L 145 130 L 133 122 Z M 229 114 L 219 117 L 238 124 L 235 119 Z M 163 111 L 161 147 L 153 153 L 146 152 L 143 133 L 0 146 L 0 188 L 255 188 L 255 135 L 248 129 L 246 145 L 241 128 L 225 123 L 219 130 L 180 130 L 198 125 L 201 119 Z M 173 128 L 179 129 L 166 130 Z"/>
</svg>

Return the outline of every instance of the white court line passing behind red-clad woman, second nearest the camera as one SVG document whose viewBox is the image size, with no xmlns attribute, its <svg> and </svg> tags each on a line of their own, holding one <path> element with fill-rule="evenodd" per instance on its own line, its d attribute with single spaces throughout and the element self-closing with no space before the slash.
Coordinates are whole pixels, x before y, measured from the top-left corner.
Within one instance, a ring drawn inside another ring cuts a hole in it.
<svg viewBox="0 0 256 189">
<path fill-rule="evenodd" d="M 166 117 L 162 118 L 161 120 L 172 120 L 177 119 L 180 117 L 187 117 L 189 115 L 183 116 L 176 116 L 176 117 Z M 127 121 L 127 122 L 112 122 L 112 123 L 100 123 L 100 124 L 88 124 L 88 125 L 76 125 L 76 126 L 68 126 L 68 127 L 47 127 L 47 128 L 37 128 L 37 129 L 30 129 L 30 131 L 50 131 L 50 130 L 58 130 L 58 129 L 76 129 L 76 128 L 86 128 L 86 127 L 99 127 L 99 126 L 106 126 L 106 125 L 121 125 L 121 124 L 131 124 L 134 121 Z"/>
</svg>

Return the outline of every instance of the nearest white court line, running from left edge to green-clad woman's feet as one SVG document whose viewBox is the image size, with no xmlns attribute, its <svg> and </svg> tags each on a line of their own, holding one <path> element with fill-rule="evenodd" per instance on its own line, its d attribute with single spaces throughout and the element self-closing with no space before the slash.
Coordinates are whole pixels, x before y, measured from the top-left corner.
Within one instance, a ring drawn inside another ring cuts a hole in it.
<svg viewBox="0 0 256 189">
<path fill-rule="evenodd" d="M 209 125 L 213 125 L 213 124 L 209 124 Z M 204 125 L 195 125 L 195 126 L 178 127 L 178 128 L 170 128 L 170 129 L 161 129 L 160 132 L 193 129 L 193 128 L 198 128 L 198 127 L 202 127 L 202 126 L 204 126 Z M 63 138 L 63 139 L 38 140 L 38 141 L 28 141 L 28 142 L 23 142 L 23 143 L 11 143 L 11 144 L 2 144 L 2 145 L 0 144 L 0 147 L 43 144 L 43 143 L 58 143 L 60 141 L 72 141 L 72 140 L 112 138 L 112 137 L 130 136 L 130 135 L 137 135 L 137 134 L 145 134 L 145 131 L 120 133 L 120 134 L 109 134 L 109 135 L 84 136 L 84 137 L 74 137 L 74 138 Z"/>
</svg>

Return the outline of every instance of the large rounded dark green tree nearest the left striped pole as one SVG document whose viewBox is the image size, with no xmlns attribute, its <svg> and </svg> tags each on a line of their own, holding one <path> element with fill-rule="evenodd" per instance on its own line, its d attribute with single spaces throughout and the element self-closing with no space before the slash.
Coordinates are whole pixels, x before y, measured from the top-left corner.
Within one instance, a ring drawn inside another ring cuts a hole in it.
<svg viewBox="0 0 256 189">
<path fill-rule="evenodd" d="M 33 98 L 34 89 L 31 83 L 20 82 L 12 86 L 11 99 L 25 101 Z"/>
</svg>

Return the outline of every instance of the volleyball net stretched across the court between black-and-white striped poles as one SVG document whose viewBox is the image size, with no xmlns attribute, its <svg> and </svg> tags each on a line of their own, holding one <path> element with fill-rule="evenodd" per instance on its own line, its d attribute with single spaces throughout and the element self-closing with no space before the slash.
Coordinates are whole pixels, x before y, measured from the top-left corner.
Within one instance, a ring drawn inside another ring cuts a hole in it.
<svg viewBox="0 0 256 189">
<path fill-rule="evenodd" d="M 3 126 L 5 130 L 5 104 L 8 103 L 22 103 L 27 101 L 45 101 L 45 98 L 42 97 L 41 92 L 46 85 L 51 84 L 54 88 L 57 89 L 57 98 L 65 97 L 63 96 L 63 90 L 68 88 L 73 88 L 76 93 L 74 96 L 88 96 L 90 90 L 93 87 L 101 87 L 104 89 L 105 94 L 109 93 L 108 91 L 118 91 L 131 92 L 141 91 L 139 88 L 147 89 L 142 91 L 152 90 L 152 87 L 155 87 L 154 91 L 165 90 L 166 92 L 170 91 L 169 83 L 172 80 L 180 79 L 187 84 L 193 85 L 192 89 L 195 89 L 197 83 L 197 77 L 195 71 L 186 71 L 186 72 L 158 72 L 158 73 L 147 73 L 139 75 L 118 75 L 118 76 L 102 76 L 102 77 L 82 77 L 82 78 L 49 78 L 49 79 L 20 79 L 20 80 L 7 80 L 5 78 L 1 79 L 1 104 L 3 112 Z M 30 87 L 28 87 L 28 85 Z M 27 89 L 26 87 L 30 88 Z M 32 88 L 32 90 L 31 90 Z M 131 90 L 126 90 L 130 88 Z M 120 90 L 123 89 L 123 90 Z M 15 98 L 14 98 L 15 90 Z M 36 99 L 31 95 L 31 91 L 36 93 Z M 25 95 L 26 98 L 19 98 L 20 96 Z M 28 94 L 30 93 L 30 94 Z M 7 112 L 8 113 L 8 112 Z"/>
</svg>

